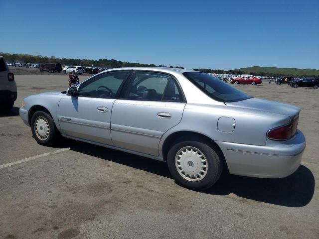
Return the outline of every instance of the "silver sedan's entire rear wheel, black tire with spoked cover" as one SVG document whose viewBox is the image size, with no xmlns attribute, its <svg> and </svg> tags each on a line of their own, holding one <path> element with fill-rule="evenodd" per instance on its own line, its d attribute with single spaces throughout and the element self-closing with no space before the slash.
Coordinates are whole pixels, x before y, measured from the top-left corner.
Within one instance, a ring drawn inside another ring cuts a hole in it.
<svg viewBox="0 0 319 239">
<path fill-rule="evenodd" d="M 218 150 L 205 141 L 177 142 L 168 151 L 167 164 L 178 184 L 194 190 L 210 188 L 223 171 Z"/>
</svg>

